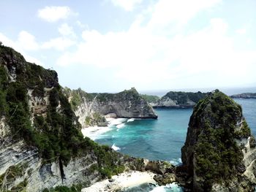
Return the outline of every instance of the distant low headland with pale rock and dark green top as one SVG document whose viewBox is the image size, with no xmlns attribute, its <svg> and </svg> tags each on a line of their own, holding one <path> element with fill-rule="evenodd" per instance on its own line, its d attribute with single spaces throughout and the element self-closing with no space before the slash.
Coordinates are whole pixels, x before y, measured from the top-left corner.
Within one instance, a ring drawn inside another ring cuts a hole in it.
<svg viewBox="0 0 256 192">
<path fill-rule="evenodd" d="M 189 108 L 194 107 L 200 99 L 203 99 L 207 93 L 192 92 L 175 92 L 170 91 L 162 96 L 161 99 L 151 102 L 152 107 L 169 107 L 169 108 Z"/>
</svg>

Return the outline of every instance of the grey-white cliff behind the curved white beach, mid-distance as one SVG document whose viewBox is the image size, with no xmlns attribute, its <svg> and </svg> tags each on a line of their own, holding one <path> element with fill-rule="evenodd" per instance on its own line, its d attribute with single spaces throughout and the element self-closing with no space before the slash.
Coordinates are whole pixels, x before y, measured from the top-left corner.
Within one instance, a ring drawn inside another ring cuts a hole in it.
<svg viewBox="0 0 256 192">
<path fill-rule="evenodd" d="M 132 88 L 120 93 L 86 93 L 65 90 L 82 126 L 105 125 L 104 115 L 113 118 L 157 118 L 148 102 Z"/>
</svg>

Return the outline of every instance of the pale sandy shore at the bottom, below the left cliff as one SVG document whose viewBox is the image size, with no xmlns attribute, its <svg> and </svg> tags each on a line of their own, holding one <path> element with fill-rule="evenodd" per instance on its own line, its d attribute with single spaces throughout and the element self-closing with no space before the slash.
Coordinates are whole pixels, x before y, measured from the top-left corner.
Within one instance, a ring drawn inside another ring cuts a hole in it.
<svg viewBox="0 0 256 192">
<path fill-rule="evenodd" d="M 103 192 L 103 191 L 116 191 L 124 188 L 131 188 L 143 183 L 154 183 L 153 180 L 154 173 L 152 172 L 124 172 L 122 174 L 118 174 L 113 176 L 111 179 L 113 180 L 102 180 L 100 182 L 94 183 L 89 188 L 83 188 L 81 192 Z"/>
</svg>

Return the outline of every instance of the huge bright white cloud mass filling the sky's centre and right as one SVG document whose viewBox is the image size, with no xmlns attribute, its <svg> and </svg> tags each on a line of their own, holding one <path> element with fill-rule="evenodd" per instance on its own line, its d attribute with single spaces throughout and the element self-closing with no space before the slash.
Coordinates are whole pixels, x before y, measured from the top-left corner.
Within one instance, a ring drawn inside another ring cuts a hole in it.
<svg viewBox="0 0 256 192">
<path fill-rule="evenodd" d="M 78 49 L 61 55 L 57 64 L 110 68 L 117 80 L 126 80 L 144 90 L 152 85 L 199 88 L 237 85 L 241 80 L 252 82 L 256 51 L 237 50 L 236 39 L 227 36 L 229 26 L 225 20 L 213 18 L 207 26 L 189 34 L 180 28 L 197 13 L 208 11 L 220 2 L 183 0 L 190 9 L 184 6 L 180 9 L 179 1 L 159 1 L 140 15 L 128 31 L 106 34 L 83 31 Z M 178 33 L 168 35 L 170 26 L 179 26 Z M 158 30 L 165 33 L 156 33 Z"/>
</svg>

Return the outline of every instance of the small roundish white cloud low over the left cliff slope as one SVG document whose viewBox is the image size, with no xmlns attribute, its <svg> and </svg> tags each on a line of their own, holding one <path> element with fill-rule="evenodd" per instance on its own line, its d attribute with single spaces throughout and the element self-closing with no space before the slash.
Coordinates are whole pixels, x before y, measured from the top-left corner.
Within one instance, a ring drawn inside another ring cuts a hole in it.
<svg viewBox="0 0 256 192">
<path fill-rule="evenodd" d="M 20 31 L 18 34 L 18 44 L 20 47 L 23 47 L 24 50 L 38 50 L 39 48 L 35 37 L 27 31 Z"/>
</svg>

